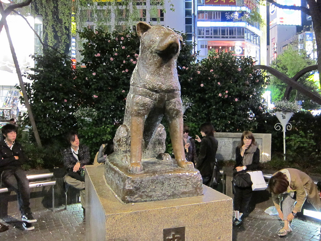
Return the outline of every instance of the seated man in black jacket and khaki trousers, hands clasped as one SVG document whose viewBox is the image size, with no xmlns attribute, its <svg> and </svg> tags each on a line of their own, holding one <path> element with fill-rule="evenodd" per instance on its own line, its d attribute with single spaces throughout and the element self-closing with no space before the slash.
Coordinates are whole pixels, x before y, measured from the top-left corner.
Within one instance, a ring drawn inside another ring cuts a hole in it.
<svg viewBox="0 0 321 241">
<path fill-rule="evenodd" d="M 71 147 L 62 152 L 64 166 L 67 168 L 67 174 L 64 176 L 64 181 L 80 190 L 80 201 L 82 208 L 85 211 L 85 177 L 83 176 L 83 168 L 90 163 L 89 150 L 87 146 L 79 145 L 78 134 L 75 131 L 70 131 L 67 134 L 67 142 Z"/>
</svg>

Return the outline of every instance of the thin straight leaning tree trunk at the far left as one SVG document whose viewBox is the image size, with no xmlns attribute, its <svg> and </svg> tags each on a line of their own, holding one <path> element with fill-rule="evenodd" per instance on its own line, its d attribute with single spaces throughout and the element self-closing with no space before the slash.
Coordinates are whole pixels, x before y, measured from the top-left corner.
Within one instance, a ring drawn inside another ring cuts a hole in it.
<svg viewBox="0 0 321 241">
<path fill-rule="evenodd" d="M 40 141 L 40 138 L 39 138 L 38 129 L 37 129 L 37 126 L 36 126 L 36 122 L 35 122 L 35 120 L 33 118 L 33 114 L 32 114 L 32 111 L 31 111 L 31 106 L 30 106 L 30 103 L 29 103 L 27 91 L 26 91 L 26 88 L 25 88 L 23 80 L 22 80 L 18 59 L 17 59 L 16 53 L 15 53 L 14 48 L 13 48 L 13 43 L 12 43 L 11 36 L 10 36 L 10 33 L 9 33 L 8 24 L 7 24 L 6 20 L 4 20 L 3 22 L 4 22 L 5 31 L 7 32 L 7 37 L 8 37 L 8 41 L 9 41 L 9 45 L 10 45 L 10 50 L 11 50 L 14 66 L 16 67 L 16 71 L 17 71 L 20 87 L 21 87 L 22 94 L 23 94 L 23 99 L 24 99 L 25 105 L 26 105 L 27 110 L 28 110 L 29 120 L 30 120 L 30 123 L 31 123 L 31 126 L 32 126 L 33 134 L 35 135 L 35 139 L 36 139 L 38 147 L 42 147 L 41 141 Z"/>
</svg>

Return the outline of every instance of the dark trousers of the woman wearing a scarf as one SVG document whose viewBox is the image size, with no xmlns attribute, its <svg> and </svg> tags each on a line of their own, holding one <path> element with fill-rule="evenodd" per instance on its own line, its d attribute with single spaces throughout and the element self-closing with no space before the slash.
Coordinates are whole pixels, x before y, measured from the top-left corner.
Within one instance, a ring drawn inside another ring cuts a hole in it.
<svg viewBox="0 0 321 241">
<path fill-rule="evenodd" d="M 252 197 L 252 187 L 234 186 L 234 210 L 246 213 L 248 204 Z"/>
</svg>

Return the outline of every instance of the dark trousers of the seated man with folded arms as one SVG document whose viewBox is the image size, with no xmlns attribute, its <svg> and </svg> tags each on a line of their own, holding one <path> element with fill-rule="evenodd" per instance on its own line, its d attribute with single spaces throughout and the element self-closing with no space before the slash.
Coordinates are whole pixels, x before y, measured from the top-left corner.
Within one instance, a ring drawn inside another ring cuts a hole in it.
<svg viewBox="0 0 321 241">
<path fill-rule="evenodd" d="M 4 170 L 1 174 L 4 186 L 14 191 L 18 196 L 19 209 L 22 215 L 31 212 L 30 210 L 30 189 L 26 173 L 21 168 L 16 170 Z"/>
</svg>

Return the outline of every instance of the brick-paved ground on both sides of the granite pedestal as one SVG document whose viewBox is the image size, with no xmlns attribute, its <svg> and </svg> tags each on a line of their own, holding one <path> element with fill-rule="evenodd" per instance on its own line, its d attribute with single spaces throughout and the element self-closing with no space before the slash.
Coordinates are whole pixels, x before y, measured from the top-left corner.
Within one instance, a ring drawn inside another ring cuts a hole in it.
<svg viewBox="0 0 321 241">
<path fill-rule="evenodd" d="M 68 210 L 65 210 L 64 207 L 60 207 L 56 209 L 55 212 L 52 212 L 51 210 L 35 212 L 34 217 L 38 219 L 38 221 L 34 224 L 35 229 L 31 231 L 26 231 L 22 228 L 21 216 L 18 214 L 13 217 L 3 217 L 0 219 L 1 222 L 5 222 L 10 226 L 8 231 L 0 233 L 0 240 L 85 240 L 85 222 L 83 221 L 82 208 L 80 204 L 68 205 Z M 277 231 L 282 228 L 282 223 L 278 220 L 278 217 L 269 216 L 264 212 L 264 210 L 255 209 L 246 219 L 244 219 L 244 223 L 241 227 L 233 228 L 232 241 L 319 241 L 320 225 L 321 221 L 316 221 L 315 219 L 295 219 L 292 224 L 293 232 L 287 237 L 280 238 L 276 234 Z M 215 228 L 215 225 L 213 225 L 213 228 Z M 214 238 L 213 240 L 216 239 Z"/>
</svg>

